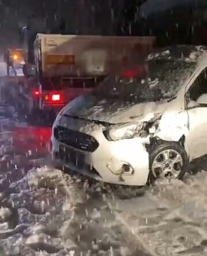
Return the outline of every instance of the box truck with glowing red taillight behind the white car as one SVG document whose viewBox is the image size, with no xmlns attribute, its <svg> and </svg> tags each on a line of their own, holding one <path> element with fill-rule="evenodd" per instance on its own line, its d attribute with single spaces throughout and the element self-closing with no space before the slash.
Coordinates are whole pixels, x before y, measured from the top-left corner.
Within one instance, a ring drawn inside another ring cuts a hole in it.
<svg viewBox="0 0 207 256">
<path fill-rule="evenodd" d="M 27 100 L 22 108 L 30 120 L 45 120 L 46 115 L 53 120 L 64 105 L 98 86 L 129 56 L 147 55 L 154 46 L 155 37 L 37 33 L 33 63 L 25 58 L 28 71 L 20 87 Z"/>
</svg>

